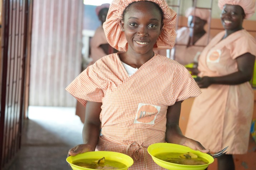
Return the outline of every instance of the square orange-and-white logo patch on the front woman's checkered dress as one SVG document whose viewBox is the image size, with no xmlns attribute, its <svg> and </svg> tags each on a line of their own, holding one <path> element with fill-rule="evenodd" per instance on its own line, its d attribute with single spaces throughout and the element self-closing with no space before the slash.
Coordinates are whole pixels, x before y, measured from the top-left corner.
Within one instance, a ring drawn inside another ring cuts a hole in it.
<svg viewBox="0 0 256 170">
<path fill-rule="evenodd" d="M 160 106 L 139 103 L 135 115 L 134 124 L 155 124 L 156 115 L 160 112 Z"/>
</svg>

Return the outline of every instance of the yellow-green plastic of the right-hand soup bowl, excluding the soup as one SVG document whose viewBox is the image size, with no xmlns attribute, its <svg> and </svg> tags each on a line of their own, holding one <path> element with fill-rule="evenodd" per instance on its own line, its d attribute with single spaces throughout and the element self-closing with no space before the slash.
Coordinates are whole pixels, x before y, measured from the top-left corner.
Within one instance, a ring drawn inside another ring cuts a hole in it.
<svg viewBox="0 0 256 170">
<path fill-rule="evenodd" d="M 202 153 L 200 151 L 195 151 L 193 149 L 190 149 L 187 146 L 170 144 L 170 143 L 152 144 L 148 147 L 148 152 L 156 164 L 158 164 L 161 167 L 164 167 L 165 169 L 169 169 L 169 170 L 204 170 L 210 164 L 212 164 L 212 162 L 214 161 L 213 157 L 208 154 Z M 178 153 L 192 152 L 193 154 L 196 154 L 197 156 L 200 156 L 203 159 L 207 160 L 208 164 L 205 164 L 205 165 L 181 165 L 181 164 L 166 162 L 166 161 L 160 160 L 154 156 L 156 154 L 166 153 L 166 152 L 178 152 Z"/>
</svg>

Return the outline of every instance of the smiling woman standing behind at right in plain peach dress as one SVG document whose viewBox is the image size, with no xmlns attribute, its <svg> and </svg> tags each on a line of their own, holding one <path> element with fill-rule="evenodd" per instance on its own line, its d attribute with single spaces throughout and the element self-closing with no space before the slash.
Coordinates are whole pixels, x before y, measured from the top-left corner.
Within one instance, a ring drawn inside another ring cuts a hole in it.
<svg viewBox="0 0 256 170">
<path fill-rule="evenodd" d="M 249 81 L 256 42 L 242 23 L 254 14 L 255 0 L 219 0 L 218 6 L 225 30 L 199 56 L 197 71 L 202 79 L 197 84 L 202 94 L 194 100 L 185 136 L 212 152 L 229 146 L 227 154 L 218 158 L 218 170 L 234 170 L 232 155 L 247 153 L 253 114 Z"/>
</svg>

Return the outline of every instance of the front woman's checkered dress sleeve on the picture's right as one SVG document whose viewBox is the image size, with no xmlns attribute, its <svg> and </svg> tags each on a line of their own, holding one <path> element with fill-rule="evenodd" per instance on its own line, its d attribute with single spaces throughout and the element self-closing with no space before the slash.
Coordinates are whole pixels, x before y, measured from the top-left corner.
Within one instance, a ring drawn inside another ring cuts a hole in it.
<svg viewBox="0 0 256 170">
<path fill-rule="evenodd" d="M 182 101 L 190 97 L 196 97 L 201 94 L 201 90 L 189 71 L 182 65 L 179 65 L 173 75 L 173 96 L 176 101 Z"/>
</svg>

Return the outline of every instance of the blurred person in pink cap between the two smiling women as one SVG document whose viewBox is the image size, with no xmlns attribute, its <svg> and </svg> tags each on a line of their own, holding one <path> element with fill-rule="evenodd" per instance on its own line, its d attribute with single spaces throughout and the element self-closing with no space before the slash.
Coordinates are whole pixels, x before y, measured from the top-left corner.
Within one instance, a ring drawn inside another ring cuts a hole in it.
<svg viewBox="0 0 256 170">
<path fill-rule="evenodd" d="M 184 26 L 177 30 L 176 45 L 171 50 L 171 58 L 182 65 L 198 62 L 198 56 L 208 43 L 208 34 L 204 26 L 209 22 L 210 15 L 211 11 L 208 9 L 189 7 L 186 10 L 188 27 Z M 210 39 L 211 37 L 209 41 Z"/>
</svg>

